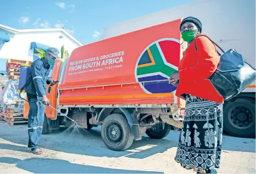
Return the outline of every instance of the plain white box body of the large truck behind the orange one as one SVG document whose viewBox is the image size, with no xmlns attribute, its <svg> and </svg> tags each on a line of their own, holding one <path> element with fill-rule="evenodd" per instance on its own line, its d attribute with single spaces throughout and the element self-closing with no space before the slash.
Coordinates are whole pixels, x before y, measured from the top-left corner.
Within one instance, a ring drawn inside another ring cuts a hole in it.
<svg viewBox="0 0 256 174">
<path fill-rule="evenodd" d="M 202 33 L 222 49 L 237 50 L 255 67 L 255 0 L 199 0 L 107 26 L 102 39 L 188 16 L 200 19 Z M 244 91 L 255 92 L 255 88 Z"/>
</svg>

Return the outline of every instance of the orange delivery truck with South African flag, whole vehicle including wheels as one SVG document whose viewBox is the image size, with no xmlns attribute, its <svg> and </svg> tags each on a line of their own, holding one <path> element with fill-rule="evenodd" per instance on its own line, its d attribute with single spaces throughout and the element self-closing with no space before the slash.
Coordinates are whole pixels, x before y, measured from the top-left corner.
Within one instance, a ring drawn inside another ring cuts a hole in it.
<svg viewBox="0 0 256 174">
<path fill-rule="evenodd" d="M 43 133 L 73 123 L 84 129 L 101 125 L 107 148 L 122 151 L 146 133 L 161 139 L 182 127 L 185 101 L 175 96 L 169 76 L 178 70 L 185 46 L 180 23 L 167 23 L 103 39 L 56 59 L 47 97 Z M 182 43 L 182 44 L 181 44 Z M 24 117 L 29 106 L 24 105 Z"/>
</svg>

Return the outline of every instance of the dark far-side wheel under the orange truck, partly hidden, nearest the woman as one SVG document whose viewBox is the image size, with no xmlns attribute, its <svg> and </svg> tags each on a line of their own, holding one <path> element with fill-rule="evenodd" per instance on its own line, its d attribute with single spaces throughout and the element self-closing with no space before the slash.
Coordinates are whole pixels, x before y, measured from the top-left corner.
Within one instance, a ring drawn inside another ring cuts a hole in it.
<svg viewBox="0 0 256 174">
<path fill-rule="evenodd" d="M 147 129 L 146 134 L 152 139 L 161 139 L 169 134 L 171 128 L 172 126 L 167 123 L 164 125 L 162 123 L 157 123 L 152 128 Z"/>
</svg>

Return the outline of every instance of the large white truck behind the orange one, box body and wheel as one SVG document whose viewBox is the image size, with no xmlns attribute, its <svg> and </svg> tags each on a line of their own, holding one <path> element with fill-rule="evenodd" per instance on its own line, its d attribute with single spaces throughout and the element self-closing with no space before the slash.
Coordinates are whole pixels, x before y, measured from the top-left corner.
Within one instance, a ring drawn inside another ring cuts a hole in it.
<svg viewBox="0 0 256 174">
<path fill-rule="evenodd" d="M 106 39 L 141 28 L 194 16 L 207 34 L 225 51 L 237 50 L 255 65 L 255 0 L 200 0 L 107 26 Z M 233 136 L 255 137 L 255 81 L 224 104 L 224 129 Z"/>
</svg>

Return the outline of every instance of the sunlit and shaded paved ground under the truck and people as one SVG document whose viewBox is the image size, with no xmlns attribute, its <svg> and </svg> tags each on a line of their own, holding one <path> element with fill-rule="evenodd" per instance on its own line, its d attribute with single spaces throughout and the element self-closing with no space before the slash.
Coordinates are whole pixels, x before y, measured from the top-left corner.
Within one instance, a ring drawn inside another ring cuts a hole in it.
<svg viewBox="0 0 256 174">
<path fill-rule="evenodd" d="M 174 161 L 179 132 L 135 141 L 127 151 L 104 146 L 100 128 L 87 133 L 43 135 L 43 155 L 27 150 L 27 128 L 0 121 L 1 173 L 195 173 Z M 65 131 L 64 131 L 65 132 Z M 67 132 L 67 131 L 66 131 Z M 255 173 L 255 139 L 224 136 L 219 173 Z"/>
</svg>

